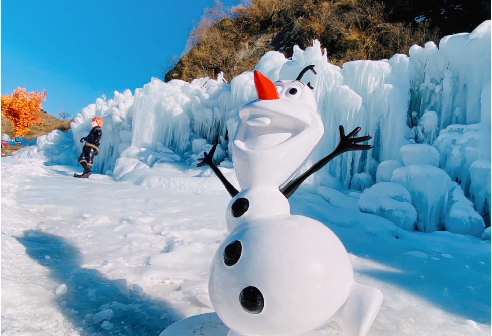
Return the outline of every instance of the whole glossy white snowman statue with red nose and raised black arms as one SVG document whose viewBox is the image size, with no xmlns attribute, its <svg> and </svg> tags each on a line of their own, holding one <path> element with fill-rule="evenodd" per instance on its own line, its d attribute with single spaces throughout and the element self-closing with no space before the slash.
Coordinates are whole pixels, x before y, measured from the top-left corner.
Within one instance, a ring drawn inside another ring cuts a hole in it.
<svg viewBox="0 0 492 336">
<path fill-rule="evenodd" d="M 313 68 L 275 83 L 254 72 L 259 99 L 239 111 L 232 145 L 241 191 L 212 162 L 215 146 L 199 159 L 197 166 L 212 168 L 232 196 L 229 235 L 210 266 L 216 313 L 174 323 L 162 335 L 316 336 L 315 329 L 336 321 L 344 335 L 364 336 L 371 327 L 381 291 L 354 281 L 347 251 L 330 229 L 290 214 L 288 198 L 307 177 L 341 153 L 372 148 L 359 144 L 371 138 L 356 138 L 360 127 L 345 135 L 340 126 L 335 150 L 293 179 L 324 132 L 313 88 L 301 81 Z"/>
</svg>

